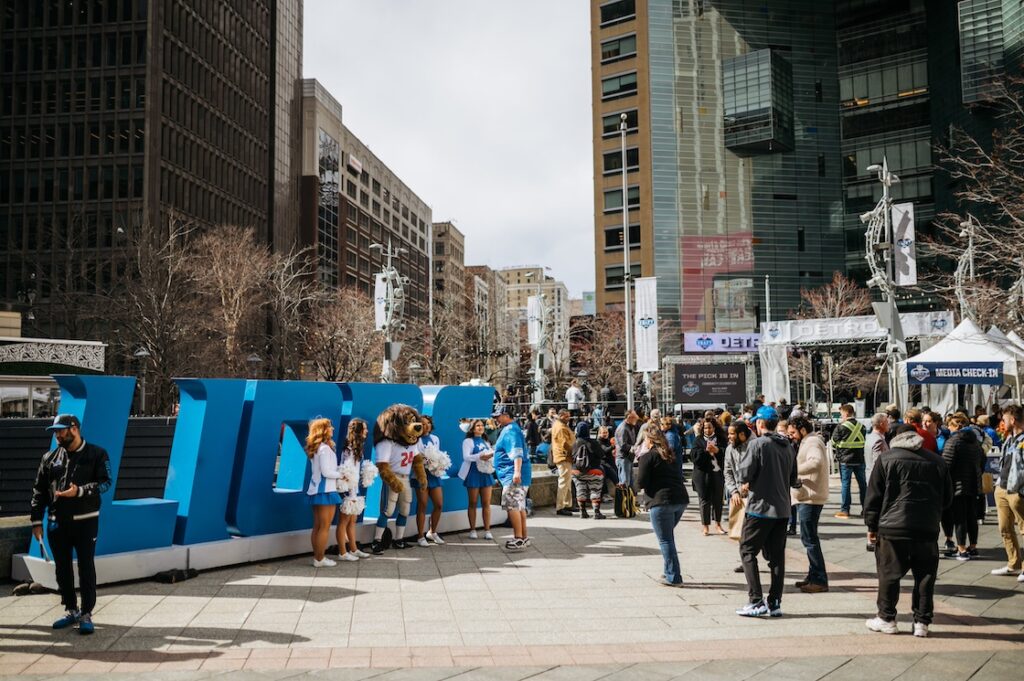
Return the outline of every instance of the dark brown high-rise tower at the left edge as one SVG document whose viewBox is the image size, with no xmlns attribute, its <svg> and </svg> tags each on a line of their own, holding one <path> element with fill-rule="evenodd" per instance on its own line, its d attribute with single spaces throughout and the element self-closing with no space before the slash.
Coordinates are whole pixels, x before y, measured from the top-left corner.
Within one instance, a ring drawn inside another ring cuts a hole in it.
<svg viewBox="0 0 1024 681">
<path fill-rule="evenodd" d="M 0 300 L 104 291 L 174 213 L 294 242 L 301 0 L 0 0 Z M 122 232 L 119 232 L 119 229 Z"/>
</svg>

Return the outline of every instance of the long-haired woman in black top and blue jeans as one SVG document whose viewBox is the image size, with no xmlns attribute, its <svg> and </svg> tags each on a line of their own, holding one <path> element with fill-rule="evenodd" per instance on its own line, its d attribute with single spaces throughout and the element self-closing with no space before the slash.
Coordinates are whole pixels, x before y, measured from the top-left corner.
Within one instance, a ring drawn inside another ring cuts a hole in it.
<svg viewBox="0 0 1024 681">
<path fill-rule="evenodd" d="M 657 428 L 644 431 L 640 451 L 637 485 L 647 495 L 650 524 L 662 550 L 665 566 L 662 584 L 681 587 L 683 574 L 676 549 L 676 525 L 690 501 L 683 484 L 683 473 L 676 464 L 676 454 Z"/>
</svg>

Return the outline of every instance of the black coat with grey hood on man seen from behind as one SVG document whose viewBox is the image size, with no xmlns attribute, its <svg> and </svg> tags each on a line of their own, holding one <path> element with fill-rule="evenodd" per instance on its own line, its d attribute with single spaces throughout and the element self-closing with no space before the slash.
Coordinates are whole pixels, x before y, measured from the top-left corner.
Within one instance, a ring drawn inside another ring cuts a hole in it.
<svg viewBox="0 0 1024 681">
<path fill-rule="evenodd" d="M 924 444 L 921 435 L 901 433 L 874 462 L 864 496 L 868 531 L 896 540 L 938 540 L 942 511 L 952 503 L 953 487 L 942 457 Z"/>
</svg>

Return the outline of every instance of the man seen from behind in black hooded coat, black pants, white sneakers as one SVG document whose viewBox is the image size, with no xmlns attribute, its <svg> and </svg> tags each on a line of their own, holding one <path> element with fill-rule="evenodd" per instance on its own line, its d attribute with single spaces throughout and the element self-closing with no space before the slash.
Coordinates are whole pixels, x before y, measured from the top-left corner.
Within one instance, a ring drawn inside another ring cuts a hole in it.
<svg viewBox="0 0 1024 681">
<path fill-rule="evenodd" d="M 942 457 L 923 449 L 924 438 L 909 424 L 896 429 L 890 450 L 874 463 L 864 501 L 867 541 L 876 545 L 879 614 L 865 624 L 895 634 L 899 582 L 913 574 L 913 635 L 928 636 L 939 569 L 939 522 L 952 503 L 953 490 Z"/>
</svg>

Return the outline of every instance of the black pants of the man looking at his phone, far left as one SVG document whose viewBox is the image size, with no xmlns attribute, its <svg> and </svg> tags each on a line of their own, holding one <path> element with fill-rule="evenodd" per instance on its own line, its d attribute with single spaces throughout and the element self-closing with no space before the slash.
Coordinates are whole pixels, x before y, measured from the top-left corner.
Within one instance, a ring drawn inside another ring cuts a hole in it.
<svg viewBox="0 0 1024 681">
<path fill-rule="evenodd" d="M 47 531 L 50 550 L 53 552 L 53 567 L 60 590 L 60 602 L 68 610 L 78 609 L 75 596 L 75 568 L 72 563 L 78 557 L 78 583 L 82 590 L 82 612 L 92 613 L 96 605 L 96 536 L 99 518 L 85 520 L 57 520 L 51 522 Z"/>
</svg>

